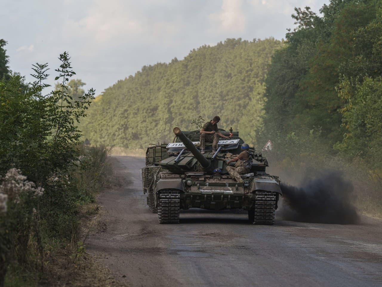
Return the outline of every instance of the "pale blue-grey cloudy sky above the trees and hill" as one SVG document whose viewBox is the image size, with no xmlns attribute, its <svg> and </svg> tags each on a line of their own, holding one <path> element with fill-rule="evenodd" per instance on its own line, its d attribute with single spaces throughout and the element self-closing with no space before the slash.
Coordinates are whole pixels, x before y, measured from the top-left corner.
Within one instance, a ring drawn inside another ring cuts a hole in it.
<svg viewBox="0 0 382 287">
<path fill-rule="evenodd" d="M 48 63 L 54 85 L 60 53 L 74 78 L 96 95 L 145 65 L 183 59 L 227 38 L 285 38 L 294 7 L 319 9 L 329 0 L 13 0 L 2 3 L 0 39 L 10 69 L 25 76 Z"/>
</svg>

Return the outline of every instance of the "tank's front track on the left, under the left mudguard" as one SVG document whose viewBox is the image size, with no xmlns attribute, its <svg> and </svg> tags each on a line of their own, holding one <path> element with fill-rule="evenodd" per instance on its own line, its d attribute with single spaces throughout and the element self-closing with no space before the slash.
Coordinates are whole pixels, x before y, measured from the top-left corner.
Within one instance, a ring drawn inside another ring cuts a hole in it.
<svg viewBox="0 0 382 287">
<path fill-rule="evenodd" d="M 179 223 L 179 191 L 162 190 L 159 192 L 158 198 L 159 223 Z"/>
</svg>

